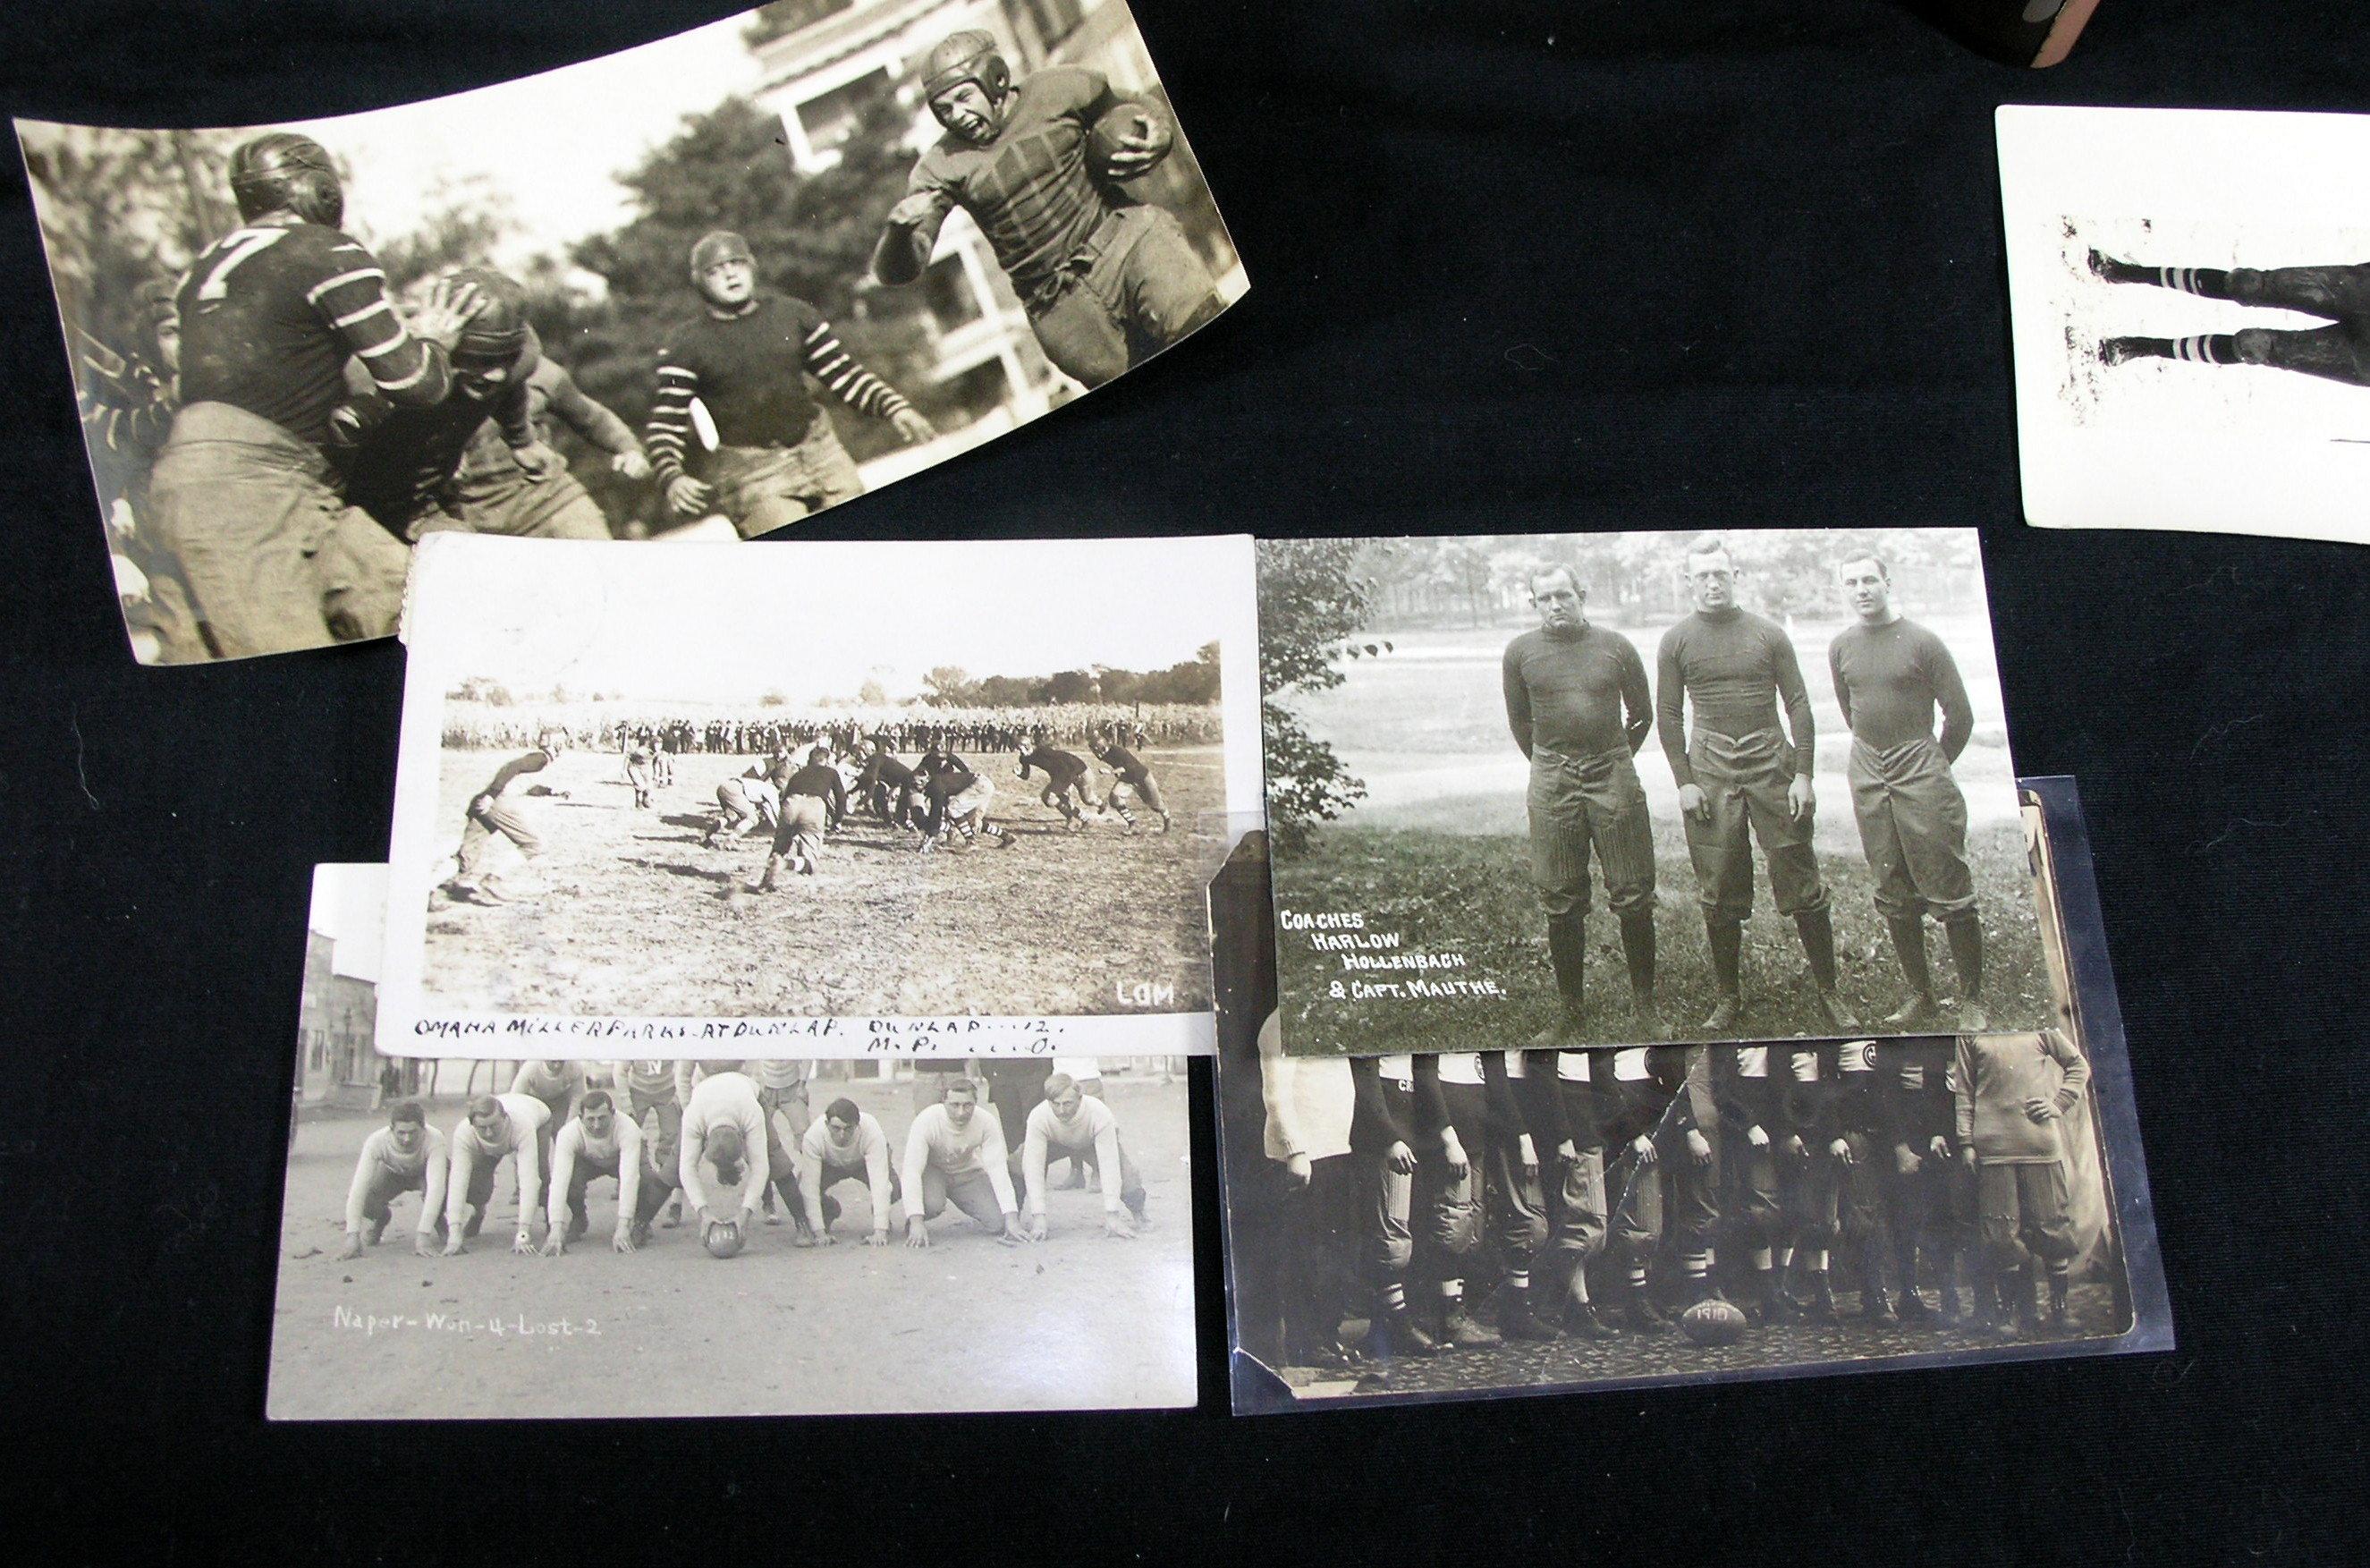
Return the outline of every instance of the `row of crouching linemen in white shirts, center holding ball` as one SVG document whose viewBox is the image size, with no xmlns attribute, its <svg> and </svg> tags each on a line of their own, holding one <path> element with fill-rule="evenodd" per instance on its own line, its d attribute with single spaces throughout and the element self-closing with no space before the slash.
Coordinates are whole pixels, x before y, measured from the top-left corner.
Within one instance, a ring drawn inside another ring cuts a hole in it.
<svg viewBox="0 0 2370 1568">
<path fill-rule="evenodd" d="M 867 1189 L 872 1246 L 889 1239 L 891 1206 L 905 1208 L 905 1246 L 929 1246 L 929 1220 L 948 1206 L 1000 1241 L 1043 1241 L 1048 1165 L 1064 1158 L 1071 1184 L 1100 1177 L 1107 1234 L 1149 1225 L 1142 1177 L 1090 1059 L 1069 1063 L 1071 1073 L 1050 1061 L 981 1063 L 1019 1071 L 1000 1085 L 1014 1090 L 1003 1108 L 984 1104 L 962 1061 L 929 1066 L 915 1078 L 922 1104 L 898 1163 L 879 1118 L 853 1099 L 811 1118 L 808 1061 L 619 1061 L 604 1087 L 581 1063 L 526 1061 L 507 1094 L 472 1099 L 450 1135 L 427 1125 L 419 1101 L 396 1101 L 356 1158 L 341 1258 L 377 1244 L 408 1191 L 419 1194 L 412 1251 L 462 1253 L 486 1222 L 502 1161 L 517 1172 L 514 1253 L 536 1251 L 538 1220 L 545 1255 L 581 1239 L 597 1177 L 616 1182 L 611 1246 L 621 1253 L 649 1241 L 671 1203 L 678 1215 L 687 1203 L 702 1232 L 732 1225 L 747 1234 L 775 1194 L 796 1222 L 796 1246 L 832 1246 L 839 1201 L 830 1189 L 841 1182 Z M 1024 1125 L 1019 1146 L 1005 1139 L 1007 1116 Z M 1029 1199 L 1026 1225 L 1017 1194 Z"/>
</svg>

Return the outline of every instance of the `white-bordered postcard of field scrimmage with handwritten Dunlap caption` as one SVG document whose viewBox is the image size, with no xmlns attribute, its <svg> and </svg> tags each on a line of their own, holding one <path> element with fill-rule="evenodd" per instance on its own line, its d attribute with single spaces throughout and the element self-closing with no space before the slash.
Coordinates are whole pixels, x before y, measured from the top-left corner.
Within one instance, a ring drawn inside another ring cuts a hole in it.
<svg viewBox="0 0 2370 1568">
<path fill-rule="evenodd" d="M 1251 606 L 1247 538 L 429 540 L 379 1047 L 1209 1052 Z"/>
</svg>

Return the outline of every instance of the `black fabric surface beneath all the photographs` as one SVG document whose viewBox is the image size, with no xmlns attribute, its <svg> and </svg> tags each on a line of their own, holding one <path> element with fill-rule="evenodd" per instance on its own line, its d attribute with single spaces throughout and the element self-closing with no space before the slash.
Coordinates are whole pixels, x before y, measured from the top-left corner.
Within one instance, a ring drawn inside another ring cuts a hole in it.
<svg viewBox="0 0 2370 1568">
<path fill-rule="evenodd" d="M 17 0 L 0 109 L 334 114 L 728 9 Z M 2017 760 L 2076 775 L 2088 803 L 2178 1352 L 1232 1421 L 1209 1267 L 1190 1414 L 268 1428 L 308 874 L 384 855 L 403 656 L 130 663 L 9 159 L 0 1478 L 19 1547 L 2346 1556 L 2370 552 L 2022 526 L 1991 109 L 2370 109 L 2356 7 L 2107 0 L 2048 73 L 1887 0 L 1142 0 L 1140 24 L 1251 296 L 803 535 L 1979 523 Z M 929 1312 L 962 1331 L 960 1300 Z"/>
</svg>

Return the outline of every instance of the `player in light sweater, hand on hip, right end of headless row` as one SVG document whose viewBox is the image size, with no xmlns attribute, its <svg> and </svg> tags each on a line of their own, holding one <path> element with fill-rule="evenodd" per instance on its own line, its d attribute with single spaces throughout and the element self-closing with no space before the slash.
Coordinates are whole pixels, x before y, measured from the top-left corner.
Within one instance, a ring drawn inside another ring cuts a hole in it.
<svg viewBox="0 0 2370 1568">
<path fill-rule="evenodd" d="M 1958 1151 L 1977 1172 L 1984 1265 L 2022 1326 L 2033 1326 L 2036 1265 L 2048 1272 L 2048 1326 L 2067 1324 L 2078 1244 L 2060 1120 L 2088 1082 L 2090 1063 L 2064 1030 L 1958 1037 Z"/>
</svg>

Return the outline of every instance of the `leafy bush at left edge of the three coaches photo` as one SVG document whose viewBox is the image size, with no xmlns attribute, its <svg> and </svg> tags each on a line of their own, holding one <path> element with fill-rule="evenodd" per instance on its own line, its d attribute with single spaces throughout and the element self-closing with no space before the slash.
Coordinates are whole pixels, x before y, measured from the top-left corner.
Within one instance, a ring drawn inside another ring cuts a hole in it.
<svg viewBox="0 0 2370 1568">
<path fill-rule="evenodd" d="M 1306 846 L 1311 827 L 1365 798 L 1365 782 L 1280 701 L 1289 692 L 1330 692 L 1346 680 L 1337 658 L 1389 647 L 1349 642 L 1370 611 L 1365 580 L 1353 571 L 1358 554 L 1358 540 L 1258 547 L 1258 727 L 1268 753 L 1268 834 L 1282 850 Z"/>
</svg>

